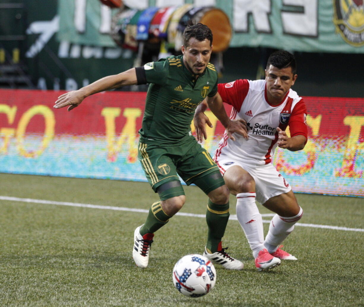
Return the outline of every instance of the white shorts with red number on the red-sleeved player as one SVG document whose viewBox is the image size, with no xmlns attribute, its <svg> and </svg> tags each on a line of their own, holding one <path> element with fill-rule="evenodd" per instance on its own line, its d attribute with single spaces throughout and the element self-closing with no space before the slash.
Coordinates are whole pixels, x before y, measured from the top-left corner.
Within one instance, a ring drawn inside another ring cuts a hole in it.
<svg viewBox="0 0 364 307">
<path fill-rule="evenodd" d="M 271 163 L 266 165 L 249 166 L 236 158 L 232 159 L 222 155 L 219 156 L 215 162 L 217 162 L 222 176 L 227 169 L 234 165 L 241 166 L 245 169 L 254 178 L 257 194 L 256 200 L 260 204 L 264 204 L 273 196 L 287 193 L 292 190 L 288 182 L 286 182 L 283 176 Z"/>
</svg>

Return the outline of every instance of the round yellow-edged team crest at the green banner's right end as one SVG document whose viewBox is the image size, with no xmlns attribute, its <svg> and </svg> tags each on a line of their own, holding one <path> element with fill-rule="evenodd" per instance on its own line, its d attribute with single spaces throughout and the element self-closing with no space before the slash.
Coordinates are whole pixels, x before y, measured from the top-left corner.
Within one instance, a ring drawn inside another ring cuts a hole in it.
<svg viewBox="0 0 364 307">
<path fill-rule="evenodd" d="M 345 42 L 364 45 L 363 0 L 334 0 L 334 23 Z"/>
</svg>

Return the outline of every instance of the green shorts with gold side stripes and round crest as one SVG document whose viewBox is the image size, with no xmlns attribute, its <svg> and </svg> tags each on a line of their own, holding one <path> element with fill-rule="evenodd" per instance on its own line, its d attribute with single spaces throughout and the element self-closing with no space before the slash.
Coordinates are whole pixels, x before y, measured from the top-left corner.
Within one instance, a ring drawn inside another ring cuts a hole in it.
<svg viewBox="0 0 364 307">
<path fill-rule="evenodd" d="M 190 185 L 200 177 L 216 172 L 218 166 L 195 138 L 178 144 L 146 144 L 139 142 L 138 159 L 156 192 L 158 186 L 178 175 Z"/>
</svg>

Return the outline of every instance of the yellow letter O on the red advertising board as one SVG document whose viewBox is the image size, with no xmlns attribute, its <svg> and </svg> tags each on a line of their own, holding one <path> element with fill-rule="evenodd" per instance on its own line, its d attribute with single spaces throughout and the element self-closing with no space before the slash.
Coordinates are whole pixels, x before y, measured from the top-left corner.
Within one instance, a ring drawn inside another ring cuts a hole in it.
<svg viewBox="0 0 364 307">
<path fill-rule="evenodd" d="M 41 143 L 41 146 L 36 151 L 27 151 L 24 149 L 23 142 L 24 142 L 24 134 L 25 130 L 27 129 L 27 126 L 29 124 L 29 121 L 32 119 L 34 115 L 43 115 L 44 121 L 45 121 L 45 130 L 44 130 L 44 136 L 43 141 Z M 19 153 L 21 156 L 28 157 L 28 158 L 35 158 L 37 156 L 40 156 L 43 151 L 48 147 L 49 143 L 51 142 L 53 136 L 54 136 L 54 126 L 55 126 L 55 118 L 53 111 L 43 105 L 36 105 L 31 107 L 28 111 L 26 111 L 23 116 L 20 118 L 17 130 L 16 130 L 16 140 L 17 140 L 17 148 L 19 150 Z"/>
</svg>

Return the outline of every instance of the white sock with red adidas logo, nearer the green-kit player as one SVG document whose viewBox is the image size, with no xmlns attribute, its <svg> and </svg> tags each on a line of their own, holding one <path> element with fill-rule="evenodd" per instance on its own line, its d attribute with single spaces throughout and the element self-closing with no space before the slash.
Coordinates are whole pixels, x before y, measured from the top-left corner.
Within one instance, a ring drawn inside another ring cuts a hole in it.
<svg viewBox="0 0 364 307">
<path fill-rule="evenodd" d="M 246 239 L 256 258 L 258 253 L 264 249 L 264 233 L 262 216 L 255 203 L 256 193 L 237 194 L 236 215 L 241 228 L 244 230 Z"/>
</svg>

